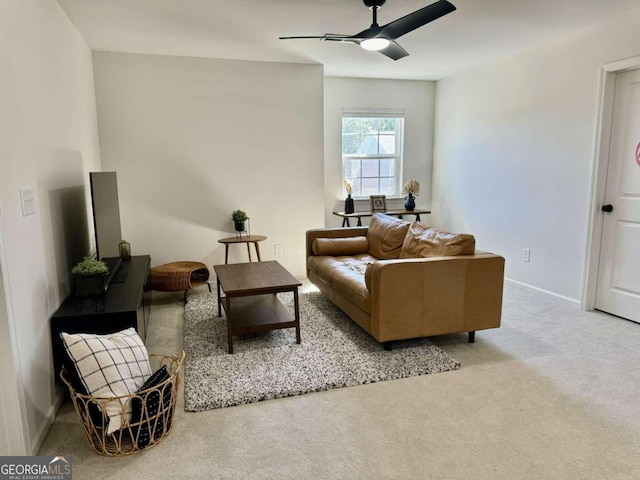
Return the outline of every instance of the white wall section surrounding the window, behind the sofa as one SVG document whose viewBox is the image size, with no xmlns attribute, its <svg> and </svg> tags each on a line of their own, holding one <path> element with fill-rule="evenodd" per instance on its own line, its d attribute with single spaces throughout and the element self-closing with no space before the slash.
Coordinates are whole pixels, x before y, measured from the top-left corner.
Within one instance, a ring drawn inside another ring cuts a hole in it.
<svg viewBox="0 0 640 480">
<path fill-rule="evenodd" d="M 403 182 L 420 182 L 418 208 L 431 207 L 431 170 L 435 82 L 325 78 L 324 84 L 324 208 L 325 224 L 340 226 L 342 219 L 332 214 L 344 210 L 342 186 L 342 109 L 403 108 L 405 110 Z M 402 199 L 387 201 L 387 208 L 402 208 Z M 368 210 L 369 200 L 356 201 L 356 210 Z M 429 222 L 428 216 L 422 218 Z"/>
</svg>

